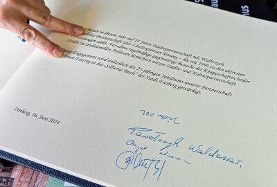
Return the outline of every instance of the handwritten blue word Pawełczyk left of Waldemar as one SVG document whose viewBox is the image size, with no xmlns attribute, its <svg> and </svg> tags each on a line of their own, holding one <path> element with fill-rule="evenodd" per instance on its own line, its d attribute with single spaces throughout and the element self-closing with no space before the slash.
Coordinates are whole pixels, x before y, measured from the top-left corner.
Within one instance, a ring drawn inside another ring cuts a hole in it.
<svg viewBox="0 0 277 187">
<path fill-rule="evenodd" d="M 166 139 L 163 139 L 163 137 L 162 137 L 162 135 L 166 134 L 166 133 L 164 133 L 164 132 L 152 132 L 153 130 L 149 129 L 149 128 L 131 127 L 128 130 L 131 131 L 130 134 L 134 134 L 134 136 L 138 136 L 141 139 L 147 139 L 149 141 L 166 144 L 166 146 L 161 148 L 161 150 L 165 150 L 165 149 L 170 148 L 170 147 L 178 148 L 181 141 L 184 140 L 184 137 L 179 137 L 175 141 L 168 141 Z M 149 135 L 148 132 L 152 132 L 153 134 Z"/>
</svg>

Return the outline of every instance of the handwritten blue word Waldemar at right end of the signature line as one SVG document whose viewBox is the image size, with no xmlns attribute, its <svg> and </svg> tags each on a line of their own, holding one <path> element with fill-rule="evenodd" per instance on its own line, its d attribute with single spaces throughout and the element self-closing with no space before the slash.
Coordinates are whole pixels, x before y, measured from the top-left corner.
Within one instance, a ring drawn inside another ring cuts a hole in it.
<svg viewBox="0 0 277 187">
<path fill-rule="evenodd" d="M 242 167 L 242 161 L 241 160 L 235 160 L 232 157 L 222 157 L 220 155 L 220 150 L 215 150 L 214 148 L 204 148 L 204 145 L 198 145 L 195 147 L 195 145 L 190 145 L 188 148 L 190 151 L 195 152 L 196 154 L 206 155 L 210 157 L 211 159 L 217 158 L 222 161 L 226 161 L 227 163 L 238 165 L 240 163 L 240 168 Z"/>
</svg>

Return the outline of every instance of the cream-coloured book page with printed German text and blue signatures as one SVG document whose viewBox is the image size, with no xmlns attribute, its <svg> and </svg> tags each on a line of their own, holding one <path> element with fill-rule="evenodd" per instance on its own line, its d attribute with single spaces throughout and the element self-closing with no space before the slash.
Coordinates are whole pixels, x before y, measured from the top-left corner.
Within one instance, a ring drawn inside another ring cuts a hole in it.
<svg viewBox="0 0 277 187">
<path fill-rule="evenodd" d="M 276 24 L 160 0 L 68 19 L 86 35 L 1 91 L 3 150 L 105 186 L 277 185 Z"/>
</svg>

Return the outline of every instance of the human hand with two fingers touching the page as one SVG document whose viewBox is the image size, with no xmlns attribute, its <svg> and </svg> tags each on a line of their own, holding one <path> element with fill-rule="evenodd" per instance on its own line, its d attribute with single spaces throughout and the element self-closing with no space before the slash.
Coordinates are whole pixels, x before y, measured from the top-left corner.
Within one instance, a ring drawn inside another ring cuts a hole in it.
<svg viewBox="0 0 277 187">
<path fill-rule="evenodd" d="M 16 33 L 53 57 L 62 57 L 60 46 L 26 23 L 27 19 L 69 35 L 82 35 L 84 28 L 50 15 L 43 0 L 0 0 L 0 26 Z"/>
</svg>

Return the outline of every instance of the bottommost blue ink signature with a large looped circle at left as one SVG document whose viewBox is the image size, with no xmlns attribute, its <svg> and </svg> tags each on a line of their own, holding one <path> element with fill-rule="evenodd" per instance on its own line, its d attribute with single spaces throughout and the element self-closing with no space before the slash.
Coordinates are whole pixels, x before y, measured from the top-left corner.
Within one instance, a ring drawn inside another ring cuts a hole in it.
<svg viewBox="0 0 277 187">
<path fill-rule="evenodd" d="M 145 175 L 143 179 L 145 179 L 148 174 L 157 177 L 157 181 L 161 177 L 161 173 L 163 172 L 163 167 L 166 164 L 166 160 L 160 160 L 156 158 L 145 159 L 143 158 L 143 153 L 140 152 L 137 154 L 132 151 L 124 151 L 121 152 L 116 158 L 116 166 L 121 170 L 127 170 L 127 168 L 132 168 L 133 170 L 142 168 L 145 170 Z"/>
</svg>

